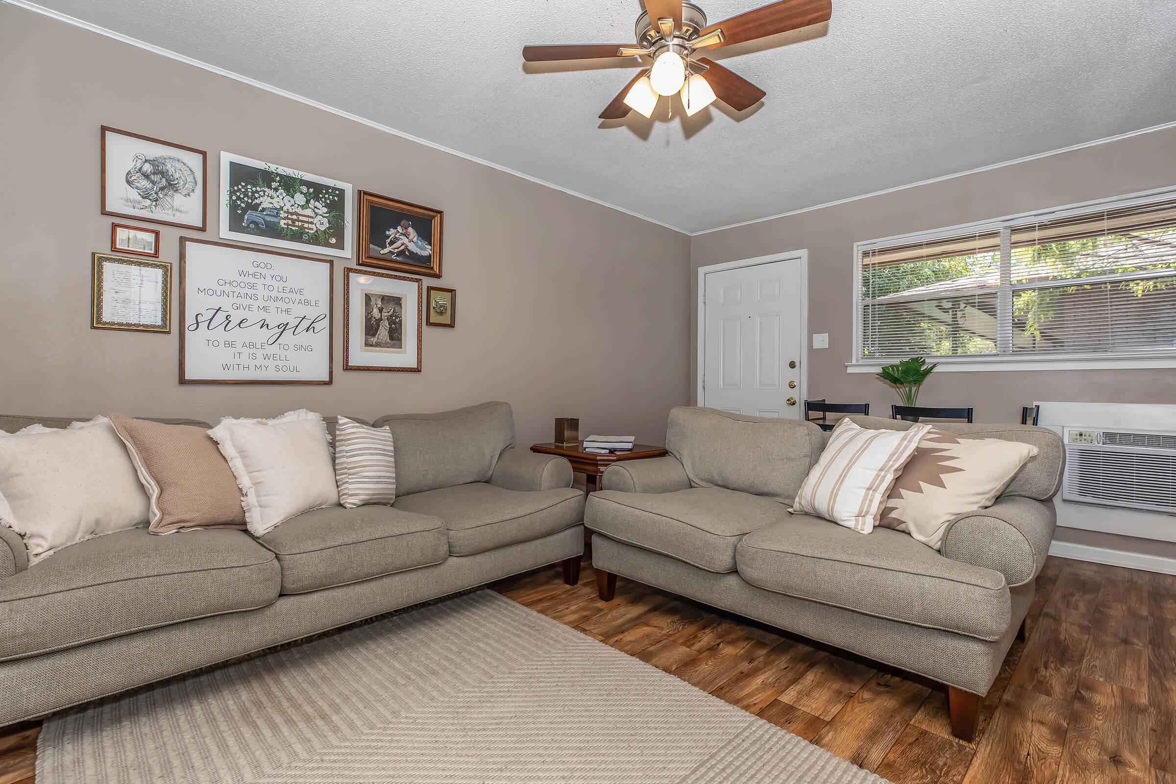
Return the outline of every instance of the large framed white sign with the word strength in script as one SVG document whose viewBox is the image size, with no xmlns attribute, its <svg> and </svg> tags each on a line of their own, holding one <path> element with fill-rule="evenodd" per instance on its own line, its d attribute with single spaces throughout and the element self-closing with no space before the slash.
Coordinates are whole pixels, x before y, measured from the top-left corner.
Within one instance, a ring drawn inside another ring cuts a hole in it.
<svg viewBox="0 0 1176 784">
<path fill-rule="evenodd" d="M 329 259 L 180 239 L 181 384 L 329 384 Z"/>
</svg>

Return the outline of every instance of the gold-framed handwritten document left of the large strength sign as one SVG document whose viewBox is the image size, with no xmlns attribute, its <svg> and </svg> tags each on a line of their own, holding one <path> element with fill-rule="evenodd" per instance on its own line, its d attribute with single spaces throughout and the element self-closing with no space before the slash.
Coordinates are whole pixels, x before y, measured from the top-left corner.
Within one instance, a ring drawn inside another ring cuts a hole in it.
<svg viewBox="0 0 1176 784">
<path fill-rule="evenodd" d="M 172 264 L 105 253 L 93 263 L 92 328 L 172 331 Z"/>
</svg>

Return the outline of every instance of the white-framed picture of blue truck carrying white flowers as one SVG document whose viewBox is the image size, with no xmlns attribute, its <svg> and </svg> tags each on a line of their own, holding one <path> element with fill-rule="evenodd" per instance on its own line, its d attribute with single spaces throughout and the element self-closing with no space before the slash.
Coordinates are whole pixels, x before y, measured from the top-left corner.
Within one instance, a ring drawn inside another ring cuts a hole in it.
<svg viewBox="0 0 1176 784">
<path fill-rule="evenodd" d="M 328 256 L 352 256 L 352 186 L 221 152 L 220 234 Z"/>
</svg>

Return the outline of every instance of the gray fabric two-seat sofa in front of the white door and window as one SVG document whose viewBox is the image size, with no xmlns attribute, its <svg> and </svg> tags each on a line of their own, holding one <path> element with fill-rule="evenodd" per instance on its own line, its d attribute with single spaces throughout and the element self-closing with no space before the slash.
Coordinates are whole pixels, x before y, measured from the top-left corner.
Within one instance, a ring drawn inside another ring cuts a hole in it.
<svg viewBox="0 0 1176 784">
<path fill-rule="evenodd" d="M 674 409 L 670 454 L 609 467 L 588 498 L 601 598 L 620 575 L 930 677 L 949 686 L 953 731 L 970 739 L 980 698 L 1023 632 L 1064 453 L 1044 428 L 937 427 L 1040 450 L 996 503 L 949 523 L 940 551 L 788 512 L 824 447 L 816 425 Z"/>
</svg>

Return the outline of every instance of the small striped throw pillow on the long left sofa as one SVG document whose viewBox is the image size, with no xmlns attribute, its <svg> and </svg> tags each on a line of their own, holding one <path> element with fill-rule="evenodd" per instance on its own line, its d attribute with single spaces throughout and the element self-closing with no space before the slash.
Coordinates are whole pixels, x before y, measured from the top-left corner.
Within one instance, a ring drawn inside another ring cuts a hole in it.
<svg viewBox="0 0 1176 784">
<path fill-rule="evenodd" d="M 335 484 L 339 503 L 355 509 L 396 500 L 396 458 L 392 430 L 339 417 L 335 430 Z"/>
</svg>

